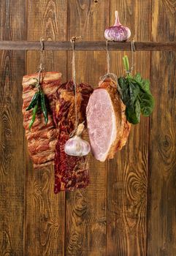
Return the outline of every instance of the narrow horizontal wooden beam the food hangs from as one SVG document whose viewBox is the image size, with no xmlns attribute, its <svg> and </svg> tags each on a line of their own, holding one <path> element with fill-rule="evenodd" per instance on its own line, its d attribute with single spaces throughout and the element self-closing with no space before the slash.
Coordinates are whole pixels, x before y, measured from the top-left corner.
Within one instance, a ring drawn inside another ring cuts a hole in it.
<svg viewBox="0 0 176 256">
<path fill-rule="evenodd" d="M 71 42 L 44 42 L 45 50 L 72 50 Z M 0 41 L 0 50 L 40 50 L 38 41 Z M 105 41 L 75 42 L 75 50 L 106 50 Z M 131 42 L 108 42 L 109 50 L 131 50 Z M 176 42 L 135 42 L 138 51 L 176 50 Z"/>
</svg>

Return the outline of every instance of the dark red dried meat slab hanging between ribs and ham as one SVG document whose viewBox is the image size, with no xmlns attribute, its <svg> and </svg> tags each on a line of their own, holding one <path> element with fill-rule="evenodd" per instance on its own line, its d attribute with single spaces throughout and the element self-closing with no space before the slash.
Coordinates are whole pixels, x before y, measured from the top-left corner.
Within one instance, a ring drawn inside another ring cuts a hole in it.
<svg viewBox="0 0 176 256">
<path fill-rule="evenodd" d="M 77 117 L 79 123 L 85 121 L 85 109 L 93 92 L 91 86 L 81 83 L 77 86 Z M 56 109 L 53 118 L 58 128 L 58 141 L 55 154 L 55 189 L 74 190 L 85 188 L 89 183 L 88 161 L 86 157 L 73 157 L 64 152 L 64 146 L 74 130 L 74 83 L 59 86 L 55 95 Z"/>
</svg>

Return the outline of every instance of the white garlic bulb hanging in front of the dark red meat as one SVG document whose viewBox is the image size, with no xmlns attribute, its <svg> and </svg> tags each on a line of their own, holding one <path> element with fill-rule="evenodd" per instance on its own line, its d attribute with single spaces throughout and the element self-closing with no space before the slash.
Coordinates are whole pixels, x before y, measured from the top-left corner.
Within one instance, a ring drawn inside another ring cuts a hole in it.
<svg viewBox="0 0 176 256">
<path fill-rule="evenodd" d="M 77 127 L 77 132 L 74 137 L 66 141 L 64 151 L 66 154 L 74 157 L 83 157 L 86 156 L 91 151 L 91 146 L 88 141 L 80 138 L 81 133 L 83 132 L 84 125 L 80 124 Z"/>
</svg>

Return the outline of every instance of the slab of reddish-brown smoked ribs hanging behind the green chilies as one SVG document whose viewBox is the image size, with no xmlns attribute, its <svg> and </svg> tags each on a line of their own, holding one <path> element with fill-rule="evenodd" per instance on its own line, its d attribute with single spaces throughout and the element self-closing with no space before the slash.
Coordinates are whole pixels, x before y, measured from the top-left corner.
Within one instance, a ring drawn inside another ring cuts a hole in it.
<svg viewBox="0 0 176 256">
<path fill-rule="evenodd" d="M 38 74 L 25 75 L 23 77 L 23 127 L 26 130 L 26 138 L 28 141 L 28 153 L 34 162 L 34 168 L 42 168 L 51 165 L 54 162 L 55 148 L 58 136 L 52 113 L 55 110 L 55 102 L 53 94 L 56 94 L 58 87 L 61 84 L 60 72 L 42 72 L 41 88 L 45 93 L 47 101 L 48 122 L 45 125 L 45 119 L 42 110 L 37 111 L 36 120 L 34 121 L 31 130 L 29 123 L 32 118 L 32 110 L 26 111 L 31 98 L 37 91 L 37 88 L 32 86 L 36 82 Z"/>
</svg>

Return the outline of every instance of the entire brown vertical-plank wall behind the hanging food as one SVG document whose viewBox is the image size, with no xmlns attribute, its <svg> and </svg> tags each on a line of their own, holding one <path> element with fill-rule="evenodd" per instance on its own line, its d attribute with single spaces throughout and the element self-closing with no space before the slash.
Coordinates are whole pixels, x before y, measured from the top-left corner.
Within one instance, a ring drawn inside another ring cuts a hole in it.
<svg viewBox="0 0 176 256">
<path fill-rule="evenodd" d="M 175 41 L 175 0 L 0 0 L 1 40 L 104 40 L 114 12 L 138 41 Z M 125 52 L 111 52 L 123 74 Z M 131 55 L 129 58 L 131 59 Z M 47 51 L 47 71 L 71 78 L 72 53 Z M 156 107 L 132 127 L 115 159 L 90 159 L 85 190 L 53 194 L 53 168 L 34 171 L 23 129 L 23 75 L 39 52 L 0 51 L 0 254 L 3 256 L 175 256 L 175 53 L 137 52 L 134 72 L 150 78 Z M 77 81 L 97 86 L 104 52 L 76 53 Z"/>
</svg>

